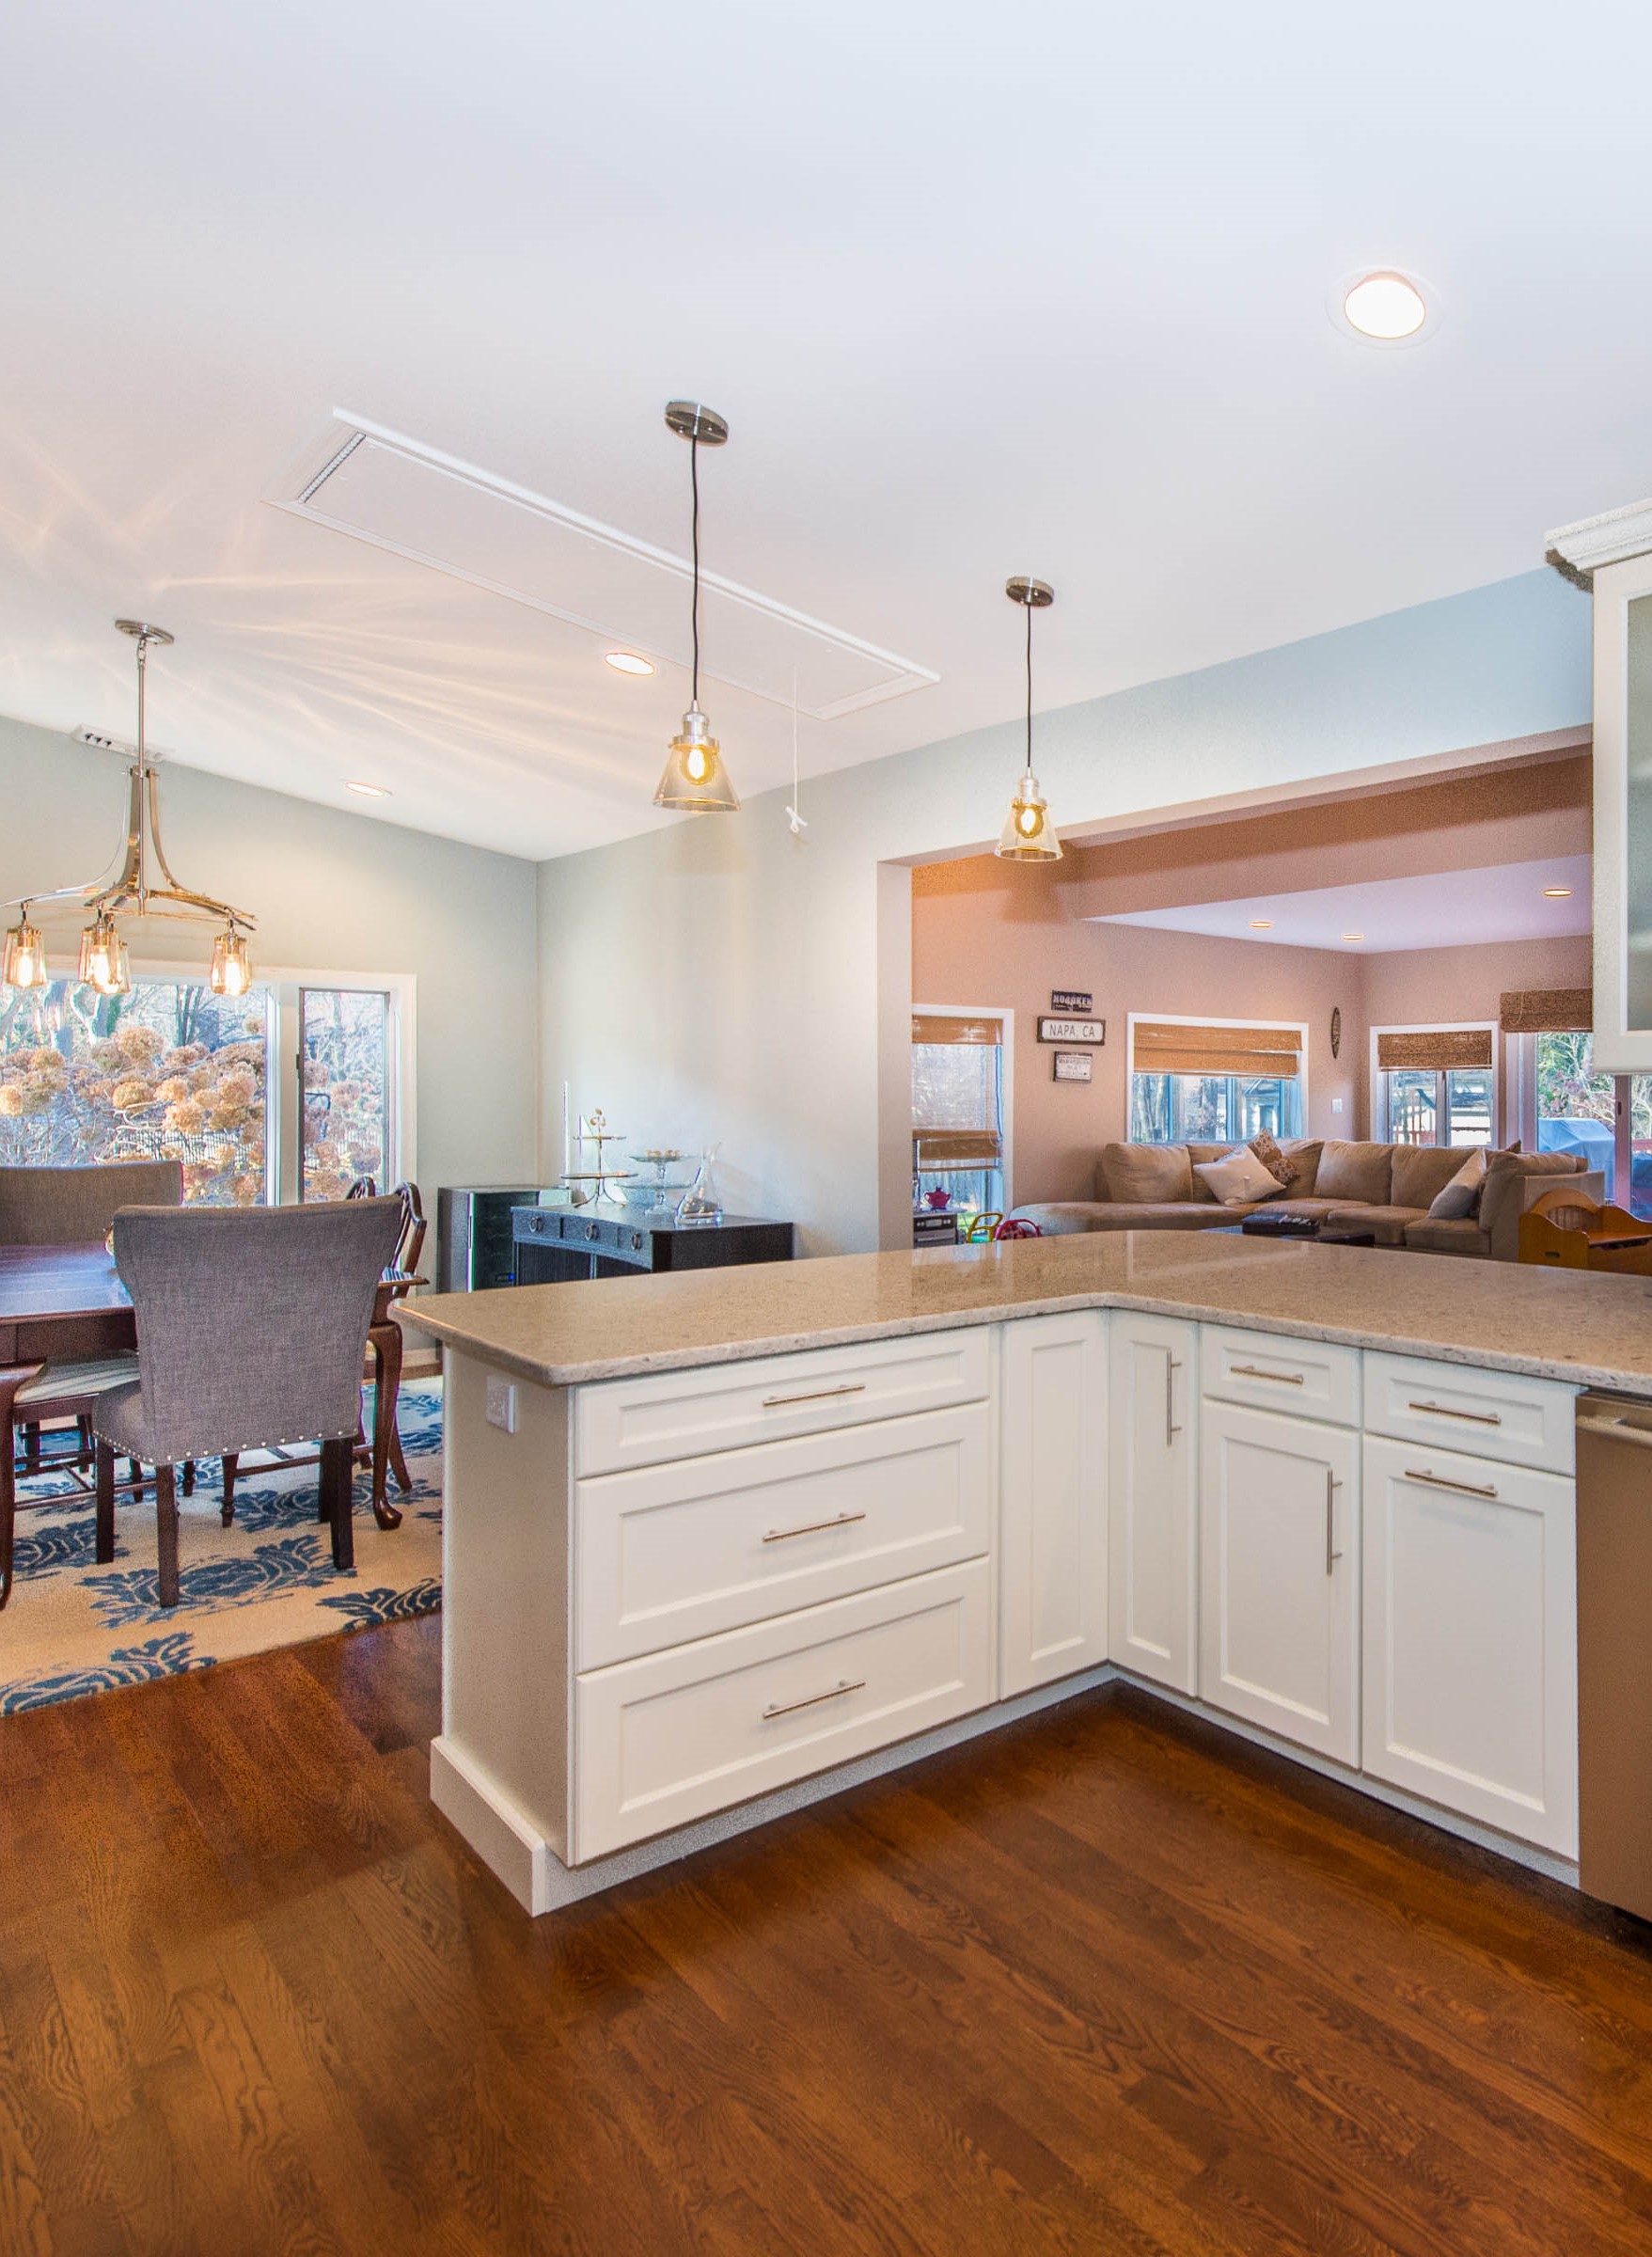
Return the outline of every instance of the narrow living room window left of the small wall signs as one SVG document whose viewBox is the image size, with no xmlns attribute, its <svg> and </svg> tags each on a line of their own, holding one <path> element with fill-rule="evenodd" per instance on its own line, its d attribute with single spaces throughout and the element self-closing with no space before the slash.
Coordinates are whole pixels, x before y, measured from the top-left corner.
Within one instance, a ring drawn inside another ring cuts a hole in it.
<svg viewBox="0 0 1652 2257">
<path fill-rule="evenodd" d="M 912 1013 L 914 1210 L 941 1192 L 955 1214 L 1009 1210 L 1009 1011 Z"/>
</svg>

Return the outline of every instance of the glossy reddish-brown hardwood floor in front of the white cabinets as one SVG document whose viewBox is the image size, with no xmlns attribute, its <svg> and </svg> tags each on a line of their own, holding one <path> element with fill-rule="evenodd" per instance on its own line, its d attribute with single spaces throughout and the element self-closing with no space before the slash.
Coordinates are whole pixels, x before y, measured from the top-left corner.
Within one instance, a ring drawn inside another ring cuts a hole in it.
<svg viewBox="0 0 1652 2257">
<path fill-rule="evenodd" d="M 1652 1930 L 1117 1688 L 530 1923 L 438 1654 L 0 1722 L 5 2257 L 1652 2250 Z"/>
</svg>

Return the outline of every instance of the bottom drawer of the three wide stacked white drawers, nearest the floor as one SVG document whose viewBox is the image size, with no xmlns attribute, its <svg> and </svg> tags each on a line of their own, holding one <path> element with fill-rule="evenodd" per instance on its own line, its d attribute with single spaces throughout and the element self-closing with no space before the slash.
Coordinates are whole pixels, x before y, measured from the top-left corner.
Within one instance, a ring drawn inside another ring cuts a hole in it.
<svg viewBox="0 0 1652 2257">
<path fill-rule="evenodd" d="M 580 1677 L 573 1862 L 993 1697 L 986 1560 Z"/>
</svg>

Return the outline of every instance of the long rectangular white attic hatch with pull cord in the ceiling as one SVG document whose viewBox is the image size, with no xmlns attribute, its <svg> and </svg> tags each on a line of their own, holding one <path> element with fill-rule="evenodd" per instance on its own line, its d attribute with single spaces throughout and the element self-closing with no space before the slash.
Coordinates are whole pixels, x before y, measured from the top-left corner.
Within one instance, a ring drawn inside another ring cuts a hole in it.
<svg viewBox="0 0 1652 2257">
<path fill-rule="evenodd" d="M 526 485 L 334 411 L 323 440 L 266 488 L 266 501 L 512 603 L 589 627 L 627 650 L 688 666 L 691 564 Z M 700 573 L 700 673 L 815 720 L 900 697 L 939 675 Z"/>
</svg>

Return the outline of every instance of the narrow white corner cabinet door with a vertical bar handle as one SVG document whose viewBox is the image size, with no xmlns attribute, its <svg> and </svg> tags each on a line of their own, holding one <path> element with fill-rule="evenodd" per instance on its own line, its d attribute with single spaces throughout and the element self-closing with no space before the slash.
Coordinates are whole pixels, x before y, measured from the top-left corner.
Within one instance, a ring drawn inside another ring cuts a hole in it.
<svg viewBox="0 0 1652 2257">
<path fill-rule="evenodd" d="M 1113 1311 L 1108 1657 L 1198 1690 L 1198 1327 Z"/>
</svg>

